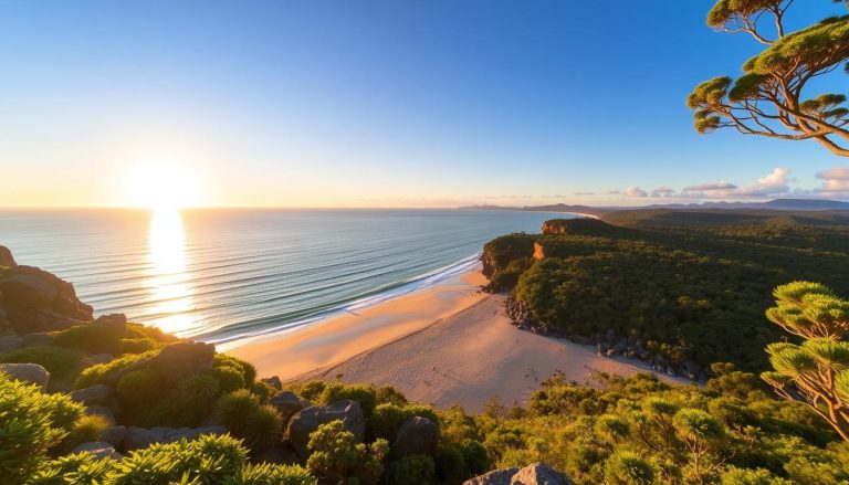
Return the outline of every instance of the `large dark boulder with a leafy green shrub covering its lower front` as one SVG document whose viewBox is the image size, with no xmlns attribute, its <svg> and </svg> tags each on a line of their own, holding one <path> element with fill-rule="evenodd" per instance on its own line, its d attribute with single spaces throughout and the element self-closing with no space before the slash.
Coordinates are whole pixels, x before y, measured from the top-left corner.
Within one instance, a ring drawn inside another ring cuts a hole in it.
<svg viewBox="0 0 849 485">
<path fill-rule="evenodd" d="M 363 408 L 357 401 L 337 401 L 329 405 L 313 405 L 298 411 L 289 421 L 287 434 L 295 453 L 306 460 L 310 451 L 306 449 L 310 442 L 310 433 L 322 424 L 342 420 L 345 429 L 354 433 L 354 440 L 361 443 L 366 437 L 366 418 Z"/>
</svg>

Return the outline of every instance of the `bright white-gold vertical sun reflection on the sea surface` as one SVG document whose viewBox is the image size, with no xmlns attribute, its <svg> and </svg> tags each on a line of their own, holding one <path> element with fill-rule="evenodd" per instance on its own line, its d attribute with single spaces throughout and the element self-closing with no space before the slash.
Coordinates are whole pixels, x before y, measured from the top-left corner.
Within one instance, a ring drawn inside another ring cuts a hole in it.
<svg viewBox="0 0 849 485">
<path fill-rule="evenodd" d="M 157 209 L 151 213 L 148 259 L 147 285 L 154 301 L 150 323 L 169 333 L 191 329 L 196 324 L 193 292 L 186 271 L 186 230 L 178 210 Z"/>
</svg>

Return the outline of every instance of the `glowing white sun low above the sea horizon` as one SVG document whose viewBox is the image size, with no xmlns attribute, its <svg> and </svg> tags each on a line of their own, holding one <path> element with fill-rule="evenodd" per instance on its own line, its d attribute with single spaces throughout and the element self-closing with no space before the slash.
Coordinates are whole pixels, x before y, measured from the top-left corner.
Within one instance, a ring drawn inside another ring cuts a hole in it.
<svg viewBox="0 0 849 485">
<path fill-rule="evenodd" d="M 178 162 L 144 162 L 126 177 L 129 205 L 154 210 L 176 210 L 201 203 L 200 178 Z"/>
</svg>

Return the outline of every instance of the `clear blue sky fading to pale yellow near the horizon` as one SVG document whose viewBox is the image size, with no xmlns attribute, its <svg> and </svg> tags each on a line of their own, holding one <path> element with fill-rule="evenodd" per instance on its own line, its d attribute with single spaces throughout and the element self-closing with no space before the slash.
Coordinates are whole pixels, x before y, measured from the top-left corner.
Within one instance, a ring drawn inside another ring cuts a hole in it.
<svg viewBox="0 0 849 485">
<path fill-rule="evenodd" d="M 797 3 L 796 27 L 846 11 Z M 692 87 L 759 50 L 708 28 L 711 6 L 3 2 L 0 205 L 123 204 L 139 165 L 224 205 L 648 203 L 625 192 L 771 173 L 814 189 L 848 164 L 692 129 Z"/>
</svg>

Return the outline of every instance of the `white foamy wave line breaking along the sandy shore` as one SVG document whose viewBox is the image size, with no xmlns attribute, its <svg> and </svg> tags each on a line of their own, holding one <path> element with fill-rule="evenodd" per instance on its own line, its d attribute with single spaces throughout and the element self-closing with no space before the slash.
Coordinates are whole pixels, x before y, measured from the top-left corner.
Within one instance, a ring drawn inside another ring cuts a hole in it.
<svg viewBox="0 0 849 485">
<path fill-rule="evenodd" d="M 258 328 L 240 333 L 232 333 L 232 330 L 228 333 L 227 327 L 223 327 L 206 336 L 200 335 L 193 336 L 192 338 L 196 340 L 206 341 L 208 344 L 216 344 L 219 350 L 223 351 L 227 350 L 227 348 L 237 347 L 260 337 L 268 337 L 274 334 L 292 331 L 325 318 L 343 315 L 345 313 L 355 313 L 358 309 L 378 305 L 380 303 L 408 295 L 412 292 L 437 285 L 441 282 L 444 282 L 446 280 L 451 278 L 452 276 L 457 276 L 473 270 L 479 264 L 480 259 L 481 253 L 472 254 L 452 264 L 420 274 L 418 276 L 402 280 L 392 284 L 378 286 L 373 291 L 357 295 L 347 302 L 339 303 L 337 306 L 334 306 L 329 309 L 324 309 L 314 315 L 310 315 L 293 321 L 286 321 L 276 325 L 270 324 L 271 326 L 268 324 L 262 325 L 255 323 L 251 326 Z M 262 318 L 262 320 L 268 321 L 268 318 Z"/>
</svg>

